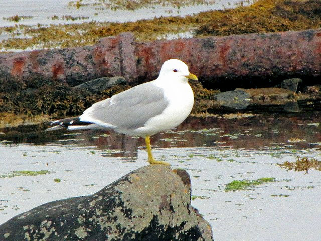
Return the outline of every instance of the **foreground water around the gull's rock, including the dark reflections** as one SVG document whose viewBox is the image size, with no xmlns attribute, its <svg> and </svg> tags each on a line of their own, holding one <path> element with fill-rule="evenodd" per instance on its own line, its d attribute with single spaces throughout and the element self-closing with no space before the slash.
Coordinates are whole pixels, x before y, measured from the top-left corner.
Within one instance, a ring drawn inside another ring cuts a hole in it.
<svg viewBox="0 0 321 241">
<path fill-rule="evenodd" d="M 297 156 L 321 160 L 320 123 L 319 114 L 188 118 L 151 142 L 156 159 L 189 172 L 192 204 L 211 223 L 215 240 L 320 240 L 321 172 L 275 165 Z M 37 138 L 36 133 L 26 139 L 0 135 L 0 175 L 50 171 L 0 178 L 0 223 L 48 201 L 92 194 L 147 164 L 141 138 L 97 131 Z M 264 177 L 276 181 L 224 191 L 233 180 Z"/>
</svg>

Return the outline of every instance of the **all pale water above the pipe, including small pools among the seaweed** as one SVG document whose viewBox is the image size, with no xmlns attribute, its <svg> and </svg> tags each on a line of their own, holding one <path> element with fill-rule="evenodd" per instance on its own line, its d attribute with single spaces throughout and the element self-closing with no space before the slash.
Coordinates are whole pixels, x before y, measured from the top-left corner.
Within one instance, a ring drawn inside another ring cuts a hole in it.
<svg viewBox="0 0 321 241">
<path fill-rule="evenodd" d="M 75 4 L 81 3 L 80 8 Z M 108 8 L 105 4 L 109 1 L 99 0 L 9 0 L 0 1 L 0 41 L 7 41 L 11 38 L 30 38 L 24 33 L 25 26 L 40 28 L 41 26 L 60 25 L 60 24 L 81 24 L 88 22 L 135 22 L 142 19 L 153 19 L 158 17 L 170 16 L 187 16 L 210 10 L 222 10 L 235 8 L 237 6 L 248 6 L 252 0 L 219 0 L 205 1 L 208 4 L 189 5 L 178 8 L 171 5 L 151 4 L 152 1 L 142 1 L 143 6 L 135 10 Z M 188 1 L 184 2 L 187 3 Z M 105 3 L 105 4 L 103 4 Z M 119 2 L 119 6 L 126 1 Z M 133 2 L 131 2 L 133 3 Z M 155 1 L 153 2 L 155 3 Z M 162 3 L 162 1 L 159 1 Z M 166 2 L 167 3 L 167 2 Z M 177 2 L 178 3 L 178 2 Z M 176 3 L 176 4 L 177 4 Z M 71 4 L 71 5 L 70 5 Z M 98 5 L 97 5 L 98 4 Z M 12 20 L 13 17 L 19 16 L 18 22 Z M 24 18 L 22 18 L 24 17 Z M 11 18 L 11 19 L 10 19 Z M 6 27 L 19 25 L 15 31 L 8 30 Z M 75 27 L 75 26 L 74 26 Z M 2 29 L 1 29 L 2 28 Z M 40 31 L 40 30 L 39 30 Z M 73 35 L 73 33 L 70 33 Z M 164 34 L 159 39 L 178 39 L 191 38 L 192 32 L 179 34 Z M 0 48 L 4 52 L 21 52 L 41 49 L 43 46 L 32 46 L 26 49 L 20 48 Z"/>
</svg>

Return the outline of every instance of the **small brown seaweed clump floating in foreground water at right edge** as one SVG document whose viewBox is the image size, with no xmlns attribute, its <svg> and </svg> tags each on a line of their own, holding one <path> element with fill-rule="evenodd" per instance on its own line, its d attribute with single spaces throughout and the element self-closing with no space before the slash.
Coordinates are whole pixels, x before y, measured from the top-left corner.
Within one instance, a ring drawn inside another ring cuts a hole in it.
<svg viewBox="0 0 321 241">
<path fill-rule="evenodd" d="M 318 161 L 314 158 L 307 158 L 307 157 L 303 157 L 303 158 L 299 158 L 297 157 L 295 162 L 284 162 L 283 164 L 277 164 L 279 165 L 281 168 L 287 169 L 288 170 L 292 170 L 294 169 L 294 171 L 305 171 L 307 174 L 307 171 L 310 169 L 315 169 L 315 170 L 319 170 L 321 171 L 321 161 Z"/>
</svg>

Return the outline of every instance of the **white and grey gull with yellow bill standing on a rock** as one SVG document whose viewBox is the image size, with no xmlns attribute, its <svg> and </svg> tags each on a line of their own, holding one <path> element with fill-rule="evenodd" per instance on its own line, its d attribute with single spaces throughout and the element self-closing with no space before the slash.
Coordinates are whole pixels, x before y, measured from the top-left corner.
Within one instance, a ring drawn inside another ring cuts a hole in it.
<svg viewBox="0 0 321 241">
<path fill-rule="evenodd" d="M 194 93 L 188 79 L 198 80 L 183 61 L 167 60 L 155 80 L 94 103 L 78 117 L 54 121 L 51 123 L 54 127 L 46 131 L 113 129 L 128 136 L 142 137 L 149 164 L 170 166 L 153 158 L 149 137 L 174 129 L 190 114 Z"/>
</svg>

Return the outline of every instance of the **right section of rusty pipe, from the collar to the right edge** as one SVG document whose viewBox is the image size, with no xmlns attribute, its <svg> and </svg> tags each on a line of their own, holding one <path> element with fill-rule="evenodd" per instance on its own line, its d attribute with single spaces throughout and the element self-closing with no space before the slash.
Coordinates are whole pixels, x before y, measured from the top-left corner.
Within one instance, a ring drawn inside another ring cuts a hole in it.
<svg viewBox="0 0 321 241">
<path fill-rule="evenodd" d="M 314 83 L 321 74 L 320 34 L 315 29 L 136 43 L 137 73 L 153 79 L 165 60 L 179 58 L 207 88 L 266 87 L 287 75 L 313 76 Z"/>
</svg>

